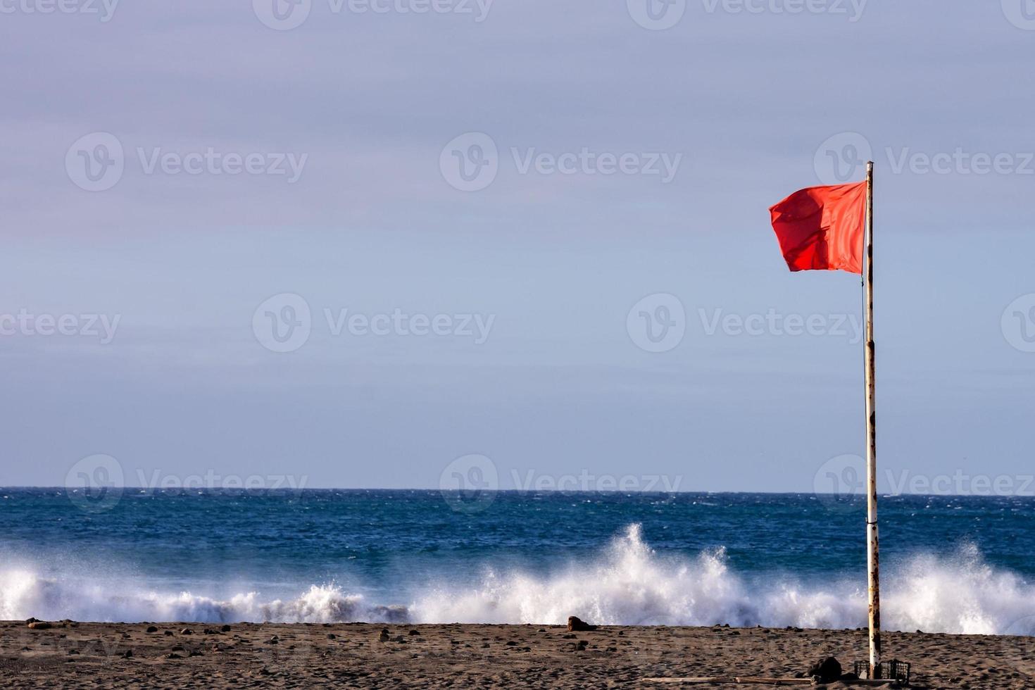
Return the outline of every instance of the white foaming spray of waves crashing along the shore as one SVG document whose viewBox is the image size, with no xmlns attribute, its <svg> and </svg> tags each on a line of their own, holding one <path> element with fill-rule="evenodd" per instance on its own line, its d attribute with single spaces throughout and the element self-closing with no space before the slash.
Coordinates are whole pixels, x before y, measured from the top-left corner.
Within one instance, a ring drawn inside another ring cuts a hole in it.
<svg viewBox="0 0 1035 690">
<path fill-rule="evenodd" d="M 664 557 L 630 526 L 593 562 L 550 574 L 490 570 L 475 588 L 411 591 L 405 605 L 369 602 L 333 583 L 285 600 L 256 592 L 215 599 L 9 568 L 0 570 L 0 619 L 559 624 L 579 616 L 604 625 L 854 628 L 865 625 L 862 584 L 740 576 L 721 549 Z M 886 629 L 1035 634 L 1035 586 L 992 568 L 973 547 L 886 569 L 882 594 Z"/>
</svg>

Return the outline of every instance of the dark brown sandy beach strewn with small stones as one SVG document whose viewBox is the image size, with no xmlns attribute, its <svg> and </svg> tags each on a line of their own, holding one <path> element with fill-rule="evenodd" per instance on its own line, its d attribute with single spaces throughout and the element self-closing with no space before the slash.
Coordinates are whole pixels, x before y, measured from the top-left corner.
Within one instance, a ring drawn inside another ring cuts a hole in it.
<svg viewBox="0 0 1035 690">
<path fill-rule="evenodd" d="M 793 677 L 827 655 L 850 668 L 866 652 L 866 635 L 856 630 L 390 625 L 382 640 L 384 629 L 8 622 L 0 624 L 0 687 L 664 688 L 680 686 L 644 679 Z M 1033 641 L 888 633 L 885 650 L 913 663 L 915 687 L 1021 689 L 1035 684 Z"/>
</svg>

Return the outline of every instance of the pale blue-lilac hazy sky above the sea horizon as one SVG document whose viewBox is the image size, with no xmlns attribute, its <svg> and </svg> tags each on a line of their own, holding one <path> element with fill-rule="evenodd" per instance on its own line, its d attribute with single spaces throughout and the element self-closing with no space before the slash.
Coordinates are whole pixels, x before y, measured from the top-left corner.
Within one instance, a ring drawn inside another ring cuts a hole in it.
<svg viewBox="0 0 1035 690">
<path fill-rule="evenodd" d="M 857 490 L 859 276 L 790 273 L 768 207 L 871 157 L 881 486 L 1035 493 L 1030 0 L 0 37 L 0 485 Z"/>
</svg>

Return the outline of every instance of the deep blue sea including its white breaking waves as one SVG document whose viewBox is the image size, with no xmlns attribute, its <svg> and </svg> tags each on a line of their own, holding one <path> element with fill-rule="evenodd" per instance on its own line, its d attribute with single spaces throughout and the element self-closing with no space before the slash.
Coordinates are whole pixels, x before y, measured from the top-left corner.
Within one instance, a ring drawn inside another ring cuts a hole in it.
<svg viewBox="0 0 1035 690">
<path fill-rule="evenodd" d="M 1035 634 L 1035 499 L 884 497 L 885 627 Z M 0 489 L 0 619 L 865 625 L 814 494 Z"/>
</svg>

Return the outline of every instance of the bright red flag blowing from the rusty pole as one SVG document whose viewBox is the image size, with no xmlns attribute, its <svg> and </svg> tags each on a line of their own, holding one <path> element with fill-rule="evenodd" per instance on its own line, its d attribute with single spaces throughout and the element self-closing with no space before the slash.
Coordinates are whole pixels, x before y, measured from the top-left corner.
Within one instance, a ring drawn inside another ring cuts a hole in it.
<svg viewBox="0 0 1035 690">
<path fill-rule="evenodd" d="M 802 189 L 769 212 L 792 271 L 862 273 L 865 182 Z"/>
</svg>

